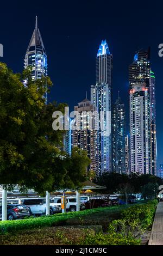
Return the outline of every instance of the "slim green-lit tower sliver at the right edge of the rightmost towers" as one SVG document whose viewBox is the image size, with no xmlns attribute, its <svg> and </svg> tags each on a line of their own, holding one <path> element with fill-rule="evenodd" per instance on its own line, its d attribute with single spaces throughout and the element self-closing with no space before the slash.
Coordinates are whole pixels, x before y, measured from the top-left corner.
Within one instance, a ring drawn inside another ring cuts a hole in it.
<svg viewBox="0 0 163 256">
<path fill-rule="evenodd" d="M 151 99 L 152 174 L 156 175 L 157 145 L 156 145 L 156 111 L 155 111 L 155 76 L 152 70 L 150 71 L 149 90 L 150 90 L 150 99 Z"/>
</svg>

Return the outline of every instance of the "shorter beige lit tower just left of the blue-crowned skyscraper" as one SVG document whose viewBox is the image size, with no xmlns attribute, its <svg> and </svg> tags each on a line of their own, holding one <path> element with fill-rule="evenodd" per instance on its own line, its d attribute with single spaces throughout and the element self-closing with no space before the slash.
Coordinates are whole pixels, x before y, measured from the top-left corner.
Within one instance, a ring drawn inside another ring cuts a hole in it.
<svg viewBox="0 0 163 256">
<path fill-rule="evenodd" d="M 74 111 L 79 114 L 74 121 L 74 126 L 78 126 L 78 130 L 72 131 L 72 145 L 87 152 L 87 156 L 91 160 L 87 171 L 93 170 L 98 175 L 98 148 L 97 148 L 97 130 L 96 124 L 96 107 L 87 98 L 78 103 L 74 107 Z"/>
</svg>

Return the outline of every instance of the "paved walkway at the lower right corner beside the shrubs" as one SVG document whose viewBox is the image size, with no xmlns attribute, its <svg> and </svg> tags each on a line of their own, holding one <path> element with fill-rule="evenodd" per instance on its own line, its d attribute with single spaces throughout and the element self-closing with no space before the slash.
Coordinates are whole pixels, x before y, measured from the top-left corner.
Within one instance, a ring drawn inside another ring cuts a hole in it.
<svg viewBox="0 0 163 256">
<path fill-rule="evenodd" d="M 158 204 L 148 245 L 163 245 L 163 202 Z"/>
</svg>

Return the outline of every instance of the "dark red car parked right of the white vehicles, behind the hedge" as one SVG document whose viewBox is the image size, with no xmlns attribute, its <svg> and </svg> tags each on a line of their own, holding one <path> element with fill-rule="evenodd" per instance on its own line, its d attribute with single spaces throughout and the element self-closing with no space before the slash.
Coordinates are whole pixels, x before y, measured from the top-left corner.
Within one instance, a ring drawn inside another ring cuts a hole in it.
<svg viewBox="0 0 163 256">
<path fill-rule="evenodd" d="M 111 205 L 111 200 L 106 199 L 91 199 L 85 203 L 85 209 L 93 209 L 98 207 L 106 207 Z"/>
</svg>

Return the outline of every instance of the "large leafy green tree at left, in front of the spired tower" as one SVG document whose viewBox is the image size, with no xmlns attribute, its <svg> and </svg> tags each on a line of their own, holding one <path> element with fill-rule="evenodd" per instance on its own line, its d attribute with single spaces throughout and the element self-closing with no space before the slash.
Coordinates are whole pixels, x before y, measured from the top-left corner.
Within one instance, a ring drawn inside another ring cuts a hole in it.
<svg viewBox="0 0 163 256">
<path fill-rule="evenodd" d="M 52 113 L 64 113 L 65 104 L 45 105 L 51 86 L 49 77 L 32 81 L 29 70 L 14 74 L 0 63 L 0 184 L 8 189 L 51 192 L 84 180 L 88 159 L 79 151 L 67 157 L 60 150 L 64 131 L 52 129 Z"/>
</svg>

